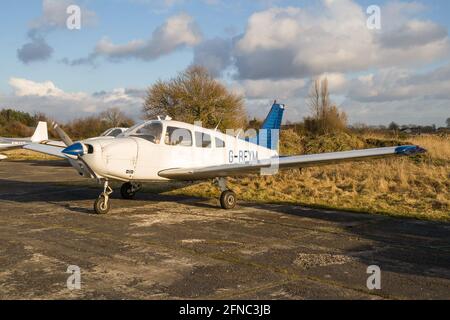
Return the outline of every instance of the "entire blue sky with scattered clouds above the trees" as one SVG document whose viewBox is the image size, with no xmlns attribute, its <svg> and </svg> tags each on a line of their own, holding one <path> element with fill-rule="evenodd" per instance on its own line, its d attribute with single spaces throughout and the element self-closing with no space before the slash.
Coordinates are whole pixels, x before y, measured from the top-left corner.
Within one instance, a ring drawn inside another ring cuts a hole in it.
<svg viewBox="0 0 450 320">
<path fill-rule="evenodd" d="M 79 29 L 67 25 L 73 5 Z M 286 121 L 301 120 L 326 77 L 352 124 L 444 126 L 449 27 L 447 0 L 4 0 L 0 108 L 68 121 L 118 107 L 138 119 L 149 86 L 198 64 L 251 118 L 276 99 Z"/>
</svg>

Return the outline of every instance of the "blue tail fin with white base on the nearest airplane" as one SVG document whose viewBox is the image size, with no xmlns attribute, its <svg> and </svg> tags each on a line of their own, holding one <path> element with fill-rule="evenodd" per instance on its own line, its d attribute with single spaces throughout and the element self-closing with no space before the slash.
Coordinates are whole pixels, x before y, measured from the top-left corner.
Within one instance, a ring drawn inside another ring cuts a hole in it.
<svg viewBox="0 0 450 320">
<path fill-rule="evenodd" d="M 279 130 L 281 128 L 281 122 L 283 121 L 285 106 L 279 104 L 276 101 L 272 105 L 266 120 L 261 127 L 259 134 L 259 145 L 266 148 L 277 150 L 278 142 L 280 139 Z"/>
</svg>

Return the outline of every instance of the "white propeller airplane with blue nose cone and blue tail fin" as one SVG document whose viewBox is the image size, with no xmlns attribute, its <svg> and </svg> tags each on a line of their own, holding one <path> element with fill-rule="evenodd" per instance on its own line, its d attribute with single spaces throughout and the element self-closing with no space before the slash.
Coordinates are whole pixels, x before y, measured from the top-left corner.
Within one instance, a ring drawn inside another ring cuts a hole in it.
<svg viewBox="0 0 450 320">
<path fill-rule="evenodd" d="M 123 182 L 120 191 L 125 199 L 132 199 L 142 183 L 212 180 L 222 191 L 221 207 L 232 209 L 236 195 L 227 188 L 227 177 L 426 152 L 418 146 L 401 146 L 280 157 L 277 133 L 284 109 L 284 105 L 275 103 L 259 135 L 252 139 L 158 117 L 115 139 L 99 137 L 76 143 L 56 127 L 66 148 L 45 144 L 25 148 L 69 159 L 81 176 L 103 183 L 103 192 L 94 203 L 97 214 L 110 210 L 111 180 Z"/>
</svg>

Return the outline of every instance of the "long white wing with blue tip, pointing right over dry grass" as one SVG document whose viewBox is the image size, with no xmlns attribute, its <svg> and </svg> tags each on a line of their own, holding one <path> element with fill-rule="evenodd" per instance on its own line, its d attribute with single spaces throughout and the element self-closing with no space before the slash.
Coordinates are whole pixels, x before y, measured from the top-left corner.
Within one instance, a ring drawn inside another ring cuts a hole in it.
<svg viewBox="0 0 450 320">
<path fill-rule="evenodd" d="M 260 173 L 261 170 L 267 170 L 267 173 L 271 173 L 273 172 L 273 169 L 306 168 L 348 161 L 385 158 L 390 156 L 408 156 L 423 152 L 425 152 L 425 150 L 417 146 L 388 147 L 291 157 L 277 157 L 242 164 L 225 164 L 197 168 L 176 168 L 162 170 L 158 174 L 159 176 L 167 179 L 195 181 L 213 179 L 217 177 L 243 176 Z"/>
</svg>

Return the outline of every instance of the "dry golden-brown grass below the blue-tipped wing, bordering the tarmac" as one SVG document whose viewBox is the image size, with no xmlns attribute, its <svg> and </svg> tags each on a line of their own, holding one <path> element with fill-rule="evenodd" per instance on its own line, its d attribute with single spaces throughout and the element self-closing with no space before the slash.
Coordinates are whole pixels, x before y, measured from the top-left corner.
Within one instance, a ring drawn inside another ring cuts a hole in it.
<svg viewBox="0 0 450 320">
<path fill-rule="evenodd" d="M 346 163 L 290 170 L 271 177 L 231 179 L 230 187 L 239 198 L 248 201 L 450 221 L 450 140 L 423 136 L 408 141 L 427 148 L 429 153 L 419 158 Z M 210 183 L 177 193 L 219 195 Z"/>
</svg>

